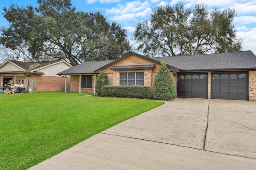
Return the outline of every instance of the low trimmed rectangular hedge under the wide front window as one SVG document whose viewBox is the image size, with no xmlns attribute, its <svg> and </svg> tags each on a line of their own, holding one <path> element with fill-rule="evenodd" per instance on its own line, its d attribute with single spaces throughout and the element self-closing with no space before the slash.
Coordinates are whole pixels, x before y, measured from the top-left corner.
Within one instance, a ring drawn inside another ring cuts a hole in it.
<svg viewBox="0 0 256 170">
<path fill-rule="evenodd" d="M 104 97 L 152 99 L 149 86 L 102 86 L 101 95 Z"/>
</svg>

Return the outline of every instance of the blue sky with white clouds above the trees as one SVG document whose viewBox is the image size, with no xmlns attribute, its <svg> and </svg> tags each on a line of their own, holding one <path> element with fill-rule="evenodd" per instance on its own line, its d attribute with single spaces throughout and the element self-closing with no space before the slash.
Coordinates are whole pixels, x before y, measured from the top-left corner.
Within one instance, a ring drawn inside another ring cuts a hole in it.
<svg viewBox="0 0 256 170">
<path fill-rule="evenodd" d="M 186 8 L 204 2 L 209 9 L 234 8 L 237 12 L 233 24 L 237 37 L 244 38 L 244 51 L 251 50 L 256 55 L 256 0 L 71 0 L 79 11 L 100 11 L 109 21 L 116 21 L 127 29 L 128 37 L 140 21 L 150 20 L 150 13 L 160 5 L 182 2 Z M 10 4 L 37 7 L 36 0 L 0 0 L 0 25 L 8 25 L 2 16 L 2 8 Z"/>
</svg>

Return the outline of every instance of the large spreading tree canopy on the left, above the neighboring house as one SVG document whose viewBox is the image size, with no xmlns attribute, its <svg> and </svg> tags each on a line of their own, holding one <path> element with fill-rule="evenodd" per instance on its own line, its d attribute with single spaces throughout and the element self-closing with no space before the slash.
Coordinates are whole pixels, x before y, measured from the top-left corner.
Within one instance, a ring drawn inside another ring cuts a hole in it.
<svg viewBox="0 0 256 170">
<path fill-rule="evenodd" d="M 50 55 L 72 65 L 117 59 L 130 51 L 126 29 L 100 12 L 76 11 L 70 0 L 37 2 L 38 8 L 3 8 L 10 25 L 0 28 L 0 44 L 10 49 L 25 45 L 34 59 Z"/>
</svg>

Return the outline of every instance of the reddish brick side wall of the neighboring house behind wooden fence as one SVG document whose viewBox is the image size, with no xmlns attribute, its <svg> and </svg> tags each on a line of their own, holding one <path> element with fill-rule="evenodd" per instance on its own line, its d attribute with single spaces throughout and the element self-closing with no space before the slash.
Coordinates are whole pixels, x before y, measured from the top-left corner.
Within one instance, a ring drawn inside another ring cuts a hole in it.
<svg viewBox="0 0 256 170">
<path fill-rule="evenodd" d="M 26 76 L 26 78 L 30 77 Z M 65 83 L 64 77 L 31 75 L 31 78 L 36 78 L 36 91 L 38 92 L 60 91 L 60 84 Z M 67 78 L 67 84 L 70 84 L 70 78 Z"/>
</svg>

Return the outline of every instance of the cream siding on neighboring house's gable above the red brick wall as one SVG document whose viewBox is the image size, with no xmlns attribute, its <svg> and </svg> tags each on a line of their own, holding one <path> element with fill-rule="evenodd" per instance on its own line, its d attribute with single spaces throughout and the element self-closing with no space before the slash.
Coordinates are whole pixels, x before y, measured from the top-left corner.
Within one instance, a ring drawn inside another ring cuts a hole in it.
<svg viewBox="0 0 256 170">
<path fill-rule="evenodd" d="M 67 70 L 68 68 L 71 68 L 71 67 L 64 62 L 61 62 L 48 67 L 44 67 L 36 71 L 44 72 L 44 75 L 42 76 L 60 77 L 59 75 L 57 75 L 57 73 Z"/>
</svg>

